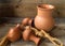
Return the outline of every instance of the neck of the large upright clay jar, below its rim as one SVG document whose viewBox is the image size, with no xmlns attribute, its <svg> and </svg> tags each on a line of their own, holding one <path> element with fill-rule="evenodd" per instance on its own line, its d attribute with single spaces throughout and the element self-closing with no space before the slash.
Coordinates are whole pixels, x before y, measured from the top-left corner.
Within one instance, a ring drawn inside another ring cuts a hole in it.
<svg viewBox="0 0 65 46">
<path fill-rule="evenodd" d="M 37 15 L 38 16 L 43 16 L 43 17 L 46 17 L 46 16 L 52 16 L 52 14 L 53 14 L 53 10 L 42 10 L 41 7 L 38 7 L 38 10 L 37 10 Z"/>
</svg>

